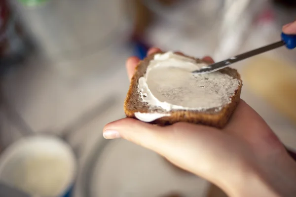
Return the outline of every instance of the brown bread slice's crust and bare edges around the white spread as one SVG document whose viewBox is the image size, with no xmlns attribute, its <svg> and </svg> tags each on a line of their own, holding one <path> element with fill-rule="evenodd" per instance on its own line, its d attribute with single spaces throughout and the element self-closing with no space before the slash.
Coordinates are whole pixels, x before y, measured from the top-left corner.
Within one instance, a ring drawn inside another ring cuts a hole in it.
<svg viewBox="0 0 296 197">
<path fill-rule="evenodd" d="M 131 80 L 130 88 L 127 93 L 127 97 L 124 102 L 124 112 L 128 118 L 136 118 L 135 113 L 163 113 L 167 114 L 167 111 L 164 111 L 160 107 L 154 107 L 153 109 L 149 108 L 149 105 L 142 101 L 141 95 L 138 91 L 138 81 L 146 73 L 146 69 L 149 65 L 149 62 L 153 60 L 155 54 L 149 55 L 143 61 L 141 61 L 136 67 L 135 74 Z M 185 56 L 189 57 L 189 56 Z M 202 60 L 189 57 L 196 61 L 196 63 L 205 63 Z M 235 90 L 233 96 L 230 97 L 231 102 L 225 106 L 221 106 L 222 109 L 217 111 L 217 108 L 208 109 L 205 111 L 198 110 L 172 110 L 169 113 L 171 116 L 158 118 L 150 123 L 158 125 L 169 125 L 176 122 L 184 121 L 191 123 L 200 123 L 204 125 L 214 126 L 217 128 L 222 128 L 226 125 L 228 119 L 234 112 L 238 102 L 240 100 L 240 93 L 242 87 L 242 80 L 240 75 L 235 69 L 224 68 L 218 72 L 231 76 L 233 79 L 238 79 L 239 85 Z M 186 95 L 185 95 L 186 96 Z M 207 99 L 207 98 L 205 98 Z"/>
</svg>

